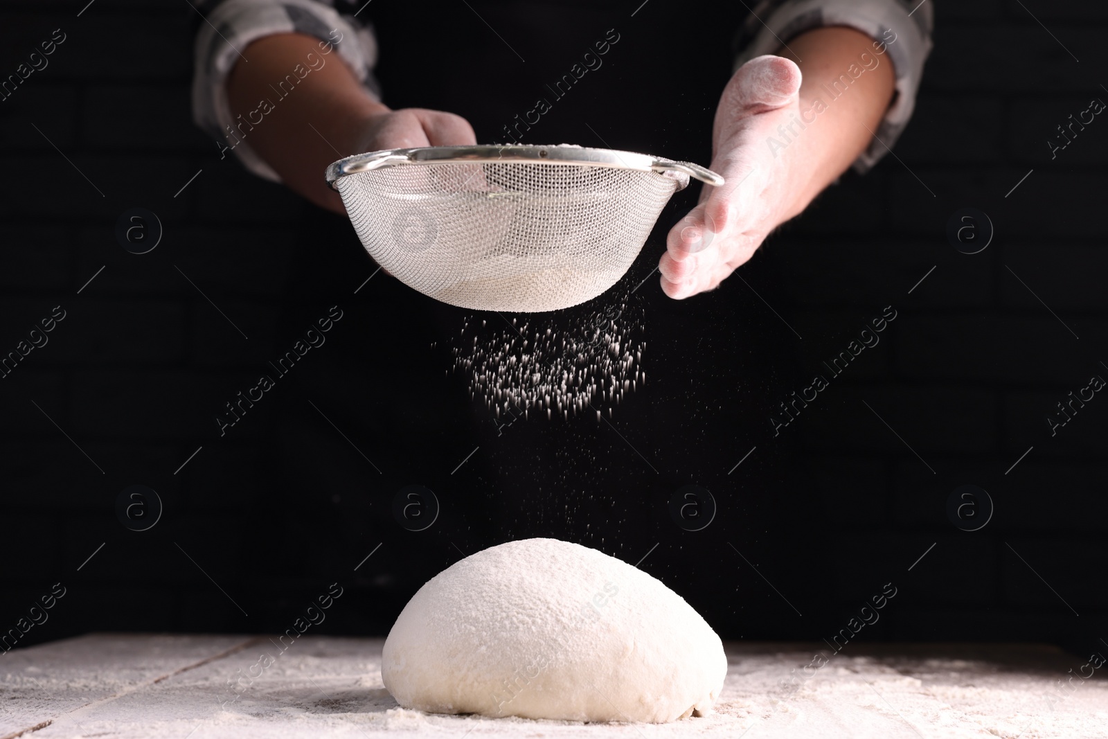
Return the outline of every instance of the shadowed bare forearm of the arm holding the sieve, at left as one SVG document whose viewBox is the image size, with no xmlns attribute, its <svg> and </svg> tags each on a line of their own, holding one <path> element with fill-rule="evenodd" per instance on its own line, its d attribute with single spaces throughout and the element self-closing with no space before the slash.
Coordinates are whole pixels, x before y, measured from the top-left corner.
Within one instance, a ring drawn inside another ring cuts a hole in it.
<svg viewBox="0 0 1108 739">
<path fill-rule="evenodd" d="M 326 42 L 299 33 L 254 41 L 244 50 L 250 61 L 238 62 L 227 78 L 227 99 L 235 135 L 289 188 L 345 213 L 338 193 L 324 181 L 324 171 L 331 162 L 359 153 L 355 147 L 372 116 L 389 109 L 370 97 L 337 53 L 324 53 L 327 48 Z M 279 84 L 287 75 L 295 85 Z"/>
</svg>

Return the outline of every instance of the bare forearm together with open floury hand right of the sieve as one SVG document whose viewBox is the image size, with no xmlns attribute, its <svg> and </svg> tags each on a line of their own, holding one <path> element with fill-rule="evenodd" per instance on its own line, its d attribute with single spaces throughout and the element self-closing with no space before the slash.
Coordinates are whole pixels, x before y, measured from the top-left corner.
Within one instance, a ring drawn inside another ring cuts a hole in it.
<svg viewBox="0 0 1108 739">
<path fill-rule="evenodd" d="M 709 168 L 726 183 L 705 186 L 699 204 L 669 232 L 658 270 L 671 298 L 711 290 L 750 259 L 865 151 L 892 99 L 891 62 L 859 66 L 861 54 L 884 49 L 881 42 L 841 27 L 787 41 L 780 55 L 740 66 L 724 89 Z M 828 105 L 825 90 L 841 74 L 851 80 L 849 94 Z"/>
</svg>

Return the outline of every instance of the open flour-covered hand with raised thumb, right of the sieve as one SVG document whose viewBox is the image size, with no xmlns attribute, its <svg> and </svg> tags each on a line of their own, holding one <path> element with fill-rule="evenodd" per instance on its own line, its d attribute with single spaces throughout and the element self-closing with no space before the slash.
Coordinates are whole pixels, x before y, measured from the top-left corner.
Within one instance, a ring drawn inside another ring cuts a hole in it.
<svg viewBox="0 0 1108 739">
<path fill-rule="evenodd" d="M 800 68 L 781 57 L 751 59 L 735 72 L 719 101 L 712 126 L 710 170 L 726 181 L 705 185 L 700 202 L 669 232 L 658 263 L 661 289 L 687 298 L 717 287 L 749 259 L 779 224 L 797 215 L 806 174 L 796 171 Z M 784 134 L 779 131 L 783 126 Z M 771 150 L 770 137 L 782 146 Z M 799 148 L 799 147 L 798 147 Z"/>
</svg>

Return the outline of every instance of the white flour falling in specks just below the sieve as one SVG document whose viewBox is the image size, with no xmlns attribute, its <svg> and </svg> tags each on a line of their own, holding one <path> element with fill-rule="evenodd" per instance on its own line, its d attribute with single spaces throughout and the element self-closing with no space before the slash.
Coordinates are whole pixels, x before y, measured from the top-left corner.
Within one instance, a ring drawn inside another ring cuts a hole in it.
<svg viewBox="0 0 1108 739">
<path fill-rule="evenodd" d="M 642 317 L 628 315 L 629 302 L 628 295 L 557 328 L 541 316 L 471 316 L 453 348 L 454 370 L 469 373 L 471 397 L 497 419 L 612 418 L 624 396 L 646 383 Z"/>
</svg>

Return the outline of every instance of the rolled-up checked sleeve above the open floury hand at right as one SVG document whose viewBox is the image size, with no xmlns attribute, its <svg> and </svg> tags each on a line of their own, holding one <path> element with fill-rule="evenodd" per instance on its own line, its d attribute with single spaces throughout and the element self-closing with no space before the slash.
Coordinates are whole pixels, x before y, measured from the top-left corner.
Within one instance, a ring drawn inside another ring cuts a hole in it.
<svg viewBox="0 0 1108 739">
<path fill-rule="evenodd" d="M 845 25 L 885 44 L 896 72 L 896 92 L 870 146 L 854 161 L 864 173 L 889 152 L 912 117 L 923 64 L 931 53 L 934 16 L 930 0 L 762 0 L 738 35 L 735 69 L 776 53 L 796 35 Z"/>
</svg>

